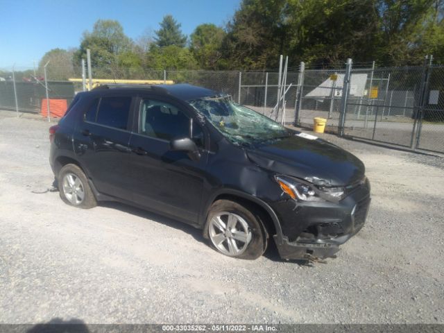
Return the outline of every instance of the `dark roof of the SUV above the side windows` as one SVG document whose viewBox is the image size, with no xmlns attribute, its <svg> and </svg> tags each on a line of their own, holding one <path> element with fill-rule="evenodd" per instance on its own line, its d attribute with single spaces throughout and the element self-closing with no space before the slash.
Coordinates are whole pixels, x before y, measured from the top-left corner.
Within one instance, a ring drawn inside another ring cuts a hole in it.
<svg viewBox="0 0 444 333">
<path fill-rule="evenodd" d="M 177 85 L 101 85 L 93 89 L 93 91 L 103 91 L 104 89 L 116 90 L 153 90 L 155 92 L 164 92 L 165 94 L 171 94 L 182 101 L 191 101 L 193 99 L 202 99 L 205 97 L 218 97 L 225 96 L 221 92 L 216 92 L 211 89 L 198 87 L 196 85 L 177 84 Z"/>
</svg>

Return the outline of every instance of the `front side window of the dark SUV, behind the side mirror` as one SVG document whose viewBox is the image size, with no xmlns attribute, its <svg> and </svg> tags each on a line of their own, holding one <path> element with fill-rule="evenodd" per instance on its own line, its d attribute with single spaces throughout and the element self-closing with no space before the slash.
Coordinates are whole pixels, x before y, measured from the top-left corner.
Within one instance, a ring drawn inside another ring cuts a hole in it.
<svg viewBox="0 0 444 333">
<path fill-rule="evenodd" d="M 139 132 L 143 135 L 165 140 L 190 137 L 189 117 L 169 103 L 143 99 L 139 119 Z"/>
</svg>

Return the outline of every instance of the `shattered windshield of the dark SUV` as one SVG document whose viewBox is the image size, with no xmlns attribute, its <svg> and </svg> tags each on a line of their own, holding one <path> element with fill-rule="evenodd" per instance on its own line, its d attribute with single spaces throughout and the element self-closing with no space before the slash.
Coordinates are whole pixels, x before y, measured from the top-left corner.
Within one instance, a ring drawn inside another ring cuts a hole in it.
<svg viewBox="0 0 444 333">
<path fill-rule="evenodd" d="M 234 103 L 229 96 L 196 99 L 189 103 L 234 144 L 258 144 L 291 135 L 284 126 Z"/>
</svg>

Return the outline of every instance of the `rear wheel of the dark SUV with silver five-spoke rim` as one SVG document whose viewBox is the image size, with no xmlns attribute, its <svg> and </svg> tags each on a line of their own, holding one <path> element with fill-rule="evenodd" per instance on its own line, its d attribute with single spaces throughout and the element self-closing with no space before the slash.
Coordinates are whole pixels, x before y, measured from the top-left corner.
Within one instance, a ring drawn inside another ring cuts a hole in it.
<svg viewBox="0 0 444 333">
<path fill-rule="evenodd" d="M 68 205 L 79 208 L 96 207 L 97 201 L 88 180 L 76 164 L 67 164 L 58 173 L 60 198 Z"/>
</svg>

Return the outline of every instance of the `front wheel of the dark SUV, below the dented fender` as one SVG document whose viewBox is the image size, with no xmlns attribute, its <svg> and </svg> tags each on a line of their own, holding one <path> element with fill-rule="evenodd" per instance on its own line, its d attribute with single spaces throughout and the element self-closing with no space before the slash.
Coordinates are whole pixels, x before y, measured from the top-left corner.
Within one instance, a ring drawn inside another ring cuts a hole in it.
<svg viewBox="0 0 444 333">
<path fill-rule="evenodd" d="M 207 214 L 204 233 L 212 247 L 223 255 L 257 259 L 264 254 L 268 242 L 262 221 L 262 213 L 253 206 L 217 200 Z"/>
</svg>

